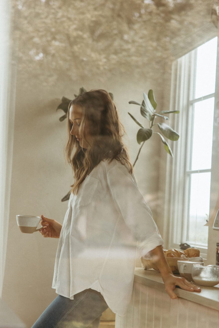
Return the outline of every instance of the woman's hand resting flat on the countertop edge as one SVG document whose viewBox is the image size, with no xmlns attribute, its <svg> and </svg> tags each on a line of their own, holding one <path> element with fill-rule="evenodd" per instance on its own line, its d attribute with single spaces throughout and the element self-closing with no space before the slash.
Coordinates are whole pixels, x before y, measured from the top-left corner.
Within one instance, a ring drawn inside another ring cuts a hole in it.
<svg viewBox="0 0 219 328">
<path fill-rule="evenodd" d="M 194 285 L 192 282 L 187 281 L 185 278 L 175 277 L 173 274 L 167 273 L 162 275 L 162 279 L 164 281 L 165 291 L 172 299 L 178 298 L 174 293 L 176 286 L 179 286 L 180 288 L 189 292 L 201 292 L 201 288 Z"/>
</svg>

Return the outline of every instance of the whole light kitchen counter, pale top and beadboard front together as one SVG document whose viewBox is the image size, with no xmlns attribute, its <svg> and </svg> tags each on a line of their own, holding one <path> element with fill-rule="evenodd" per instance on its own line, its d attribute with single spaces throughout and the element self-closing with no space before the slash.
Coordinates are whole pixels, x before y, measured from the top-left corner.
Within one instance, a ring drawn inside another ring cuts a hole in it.
<svg viewBox="0 0 219 328">
<path fill-rule="evenodd" d="M 200 288 L 200 293 L 175 288 L 179 299 L 171 299 L 159 272 L 136 268 L 132 298 L 125 316 L 116 315 L 115 328 L 216 328 L 219 284 Z"/>
</svg>

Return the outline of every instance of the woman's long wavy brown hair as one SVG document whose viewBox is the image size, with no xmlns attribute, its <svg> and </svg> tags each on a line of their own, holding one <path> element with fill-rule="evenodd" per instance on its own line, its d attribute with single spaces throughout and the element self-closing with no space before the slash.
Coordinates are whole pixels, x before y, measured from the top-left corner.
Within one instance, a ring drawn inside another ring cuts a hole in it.
<svg viewBox="0 0 219 328">
<path fill-rule="evenodd" d="M 72 125 L 69 121 L 69 110 L 72 105 L 82 108 L 79 135 L 88 144 L 87 149 L 81 148 L 76 136 L 70 134 Z M 86 131 L 85 122 L 88 123 Z M 71 186 L 74 194 L 77 194 L 80 184 L 103 159 L 112 161 L 115 158 L 126 165 L 132 173 L 132 164 L 122 142 L 124 128 L 120 123 L 116 105 L 108 92 L 95 89 L 78 95 L 69 104 L 67 126 L 69 138 L 65 147 L 65 157 L 75 175 L 75 183 Z M 86 135 L 89 135 L 89 141 Z"/>
</svg>

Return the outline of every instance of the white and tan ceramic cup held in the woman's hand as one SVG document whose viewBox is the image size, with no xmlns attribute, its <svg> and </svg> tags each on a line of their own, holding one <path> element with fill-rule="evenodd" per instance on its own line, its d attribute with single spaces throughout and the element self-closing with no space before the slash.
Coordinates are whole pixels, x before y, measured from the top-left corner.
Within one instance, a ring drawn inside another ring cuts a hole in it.
<svg viewBox="0 0 219 328">
<path fill-rule="evenodd" d="M 40 216 L 33 215 L 16 215 L 17 225 L 21 232 L 25 234 L 33 234 L 35 231 L 39 231 L 43 227 L 36 229 L 39 222 L 42 220 Z"/>
</svg>

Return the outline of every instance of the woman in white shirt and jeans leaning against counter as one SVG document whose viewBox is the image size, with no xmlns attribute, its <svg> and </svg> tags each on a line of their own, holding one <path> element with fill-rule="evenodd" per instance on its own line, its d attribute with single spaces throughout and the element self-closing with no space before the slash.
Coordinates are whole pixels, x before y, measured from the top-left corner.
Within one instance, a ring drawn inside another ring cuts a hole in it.
<svg viewBox="0 0 219 328">
<path fill-rule="evenodd" d="M 69 105 L 66 157 L 72 186 L 63 225 L 42 215 L 43 237 L 59 238 L 53 288 L 58 296 L 33 328 L 99 327 L 107 307 L 122 316 L 132 294 L 136 244 L 153 258 L 171 298 L 176 285 L 200 291 L 175 277 L 163 240 L 138 190 L 122 126 L 110 95 L 85 92 Z M 74 153 L 73 153 L 74 151 Z"/>
</svg>

